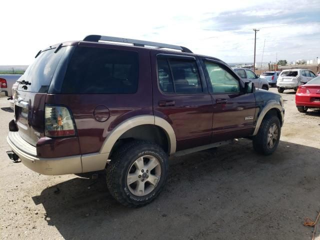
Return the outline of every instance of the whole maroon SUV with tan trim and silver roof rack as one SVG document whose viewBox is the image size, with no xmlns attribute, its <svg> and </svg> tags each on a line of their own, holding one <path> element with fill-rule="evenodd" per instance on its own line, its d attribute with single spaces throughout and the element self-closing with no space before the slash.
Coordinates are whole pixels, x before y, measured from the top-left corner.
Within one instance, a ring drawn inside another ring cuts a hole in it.
<svg viewBox="0 0 320 240">
<path fill-rule="evenodd" d="M 14 104 L 12 160 L 46 175 L 105 169 L 110 193 L 127 206 L 158 195 L 169 155 L 235 137 L 271 154 L 284 116 L 279 94 L 255 90 L 217 58 L 100 35 L 40 51 Z"/>
</svg>

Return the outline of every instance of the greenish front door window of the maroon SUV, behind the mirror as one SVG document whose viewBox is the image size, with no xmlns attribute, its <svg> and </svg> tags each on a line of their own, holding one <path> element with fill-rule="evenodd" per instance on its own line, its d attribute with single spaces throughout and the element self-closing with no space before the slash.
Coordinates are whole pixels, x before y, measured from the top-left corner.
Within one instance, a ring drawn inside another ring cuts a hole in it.
<svg viewBox="0 0 320 240">
<path fill-rule="evenodd" d="M 204 64 L 212 84 L 213 93 L 240 91 L 239 81 L 223 69 L 220 64 L 210 61 L 205 61 Z"/>
</svg>

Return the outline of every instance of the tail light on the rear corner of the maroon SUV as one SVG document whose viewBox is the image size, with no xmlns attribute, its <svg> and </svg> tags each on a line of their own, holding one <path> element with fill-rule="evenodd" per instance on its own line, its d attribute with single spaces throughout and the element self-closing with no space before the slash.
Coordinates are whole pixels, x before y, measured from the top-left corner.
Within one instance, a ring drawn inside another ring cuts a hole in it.
<svg viewBox="0 0 320 240">
<path fill-rule="evenodd" d="M 45 105 L 45 136 L 75 135 L 75 125 L 70 111 L 65 106 Z"/>
</svg>

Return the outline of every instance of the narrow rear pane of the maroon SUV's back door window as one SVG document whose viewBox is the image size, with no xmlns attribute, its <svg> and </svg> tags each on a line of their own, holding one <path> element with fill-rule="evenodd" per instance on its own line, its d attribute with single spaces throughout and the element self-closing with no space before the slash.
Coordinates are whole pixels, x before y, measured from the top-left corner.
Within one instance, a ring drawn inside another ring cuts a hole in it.
<svg viewBox="0 0 320 240">
<path fill-rule="evenodd" d="M 159 87 L 163 92 L 174 92 L 172 77 L 167 59 L 158 58 L 158 79 Z"/>
</svg>

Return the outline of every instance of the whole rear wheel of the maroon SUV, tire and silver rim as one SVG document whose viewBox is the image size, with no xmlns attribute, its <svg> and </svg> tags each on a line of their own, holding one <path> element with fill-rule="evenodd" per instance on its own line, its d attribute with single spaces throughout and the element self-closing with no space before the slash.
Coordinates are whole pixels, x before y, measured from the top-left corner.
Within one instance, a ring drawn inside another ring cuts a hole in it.
<svg viewBox="0 0 320 240">
<path fill-rule="evenodd" d="M 168 171 L 168 157 L 154 143 L 133 140 L 122 145 L 106 166 L 111 195 L 130 207 L 151 202 L 161 191 Z"/>
</svg>

